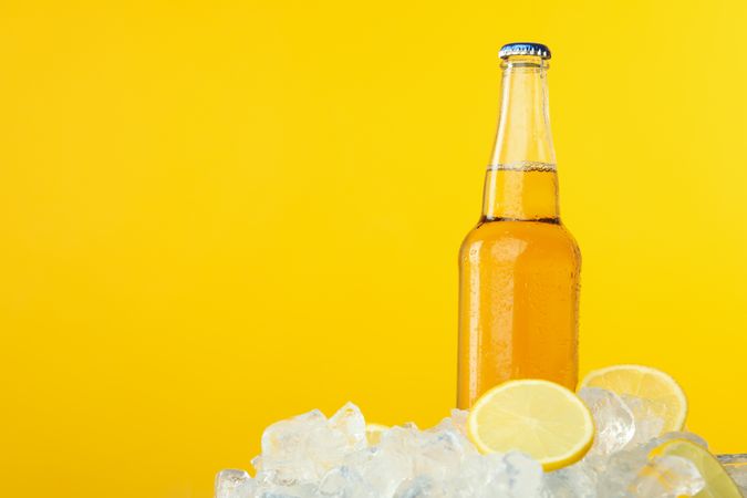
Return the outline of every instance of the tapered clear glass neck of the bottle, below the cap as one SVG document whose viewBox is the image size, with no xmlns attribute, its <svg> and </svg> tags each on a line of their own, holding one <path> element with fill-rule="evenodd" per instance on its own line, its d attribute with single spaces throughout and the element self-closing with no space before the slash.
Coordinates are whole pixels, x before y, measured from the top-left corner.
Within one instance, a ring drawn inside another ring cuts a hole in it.
<svg viewBox="0 0 747 498">
<path fill-rule="evenodd" d="M 559 219 L 547 70 L 547 61 L 535 55 L 504 63 L 498 134 L 485 180 L 486 220 Z"/>
</svg>

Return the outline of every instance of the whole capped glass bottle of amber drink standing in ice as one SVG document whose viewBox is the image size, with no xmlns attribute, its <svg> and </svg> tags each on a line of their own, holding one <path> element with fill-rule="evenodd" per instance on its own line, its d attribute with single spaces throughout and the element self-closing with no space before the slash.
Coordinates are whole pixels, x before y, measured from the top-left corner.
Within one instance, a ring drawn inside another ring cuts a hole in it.
<svg viewBox="0 0 747 498">
<path fill-rule="evenodd" d="M 500 51 L 502 96 L 483 216 L 459 251 L 457 405 L 510 378 L 578 382 L 581 253 L 560 221 L 550 132 L 550 51 Z"/>
</svg>

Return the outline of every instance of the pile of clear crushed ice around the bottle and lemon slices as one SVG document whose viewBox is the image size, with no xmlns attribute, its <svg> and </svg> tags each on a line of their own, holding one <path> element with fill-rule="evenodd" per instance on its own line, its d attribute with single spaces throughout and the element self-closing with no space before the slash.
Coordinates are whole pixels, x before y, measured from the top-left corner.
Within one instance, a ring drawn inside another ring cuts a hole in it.
<svg viewBox="0 0 747 498">
<path fill-rule="evenodd" d="M 480 455 L 466 437 L 467 412 L 453 411 L 425 430 L 392 427 L 370 445 L 359 408 L 346 404 L 326 418 L 313 411 L 278 422 L 262 435 L 262 454 L 243 470 L 222 470 L 216 498 L 676 498 L 705 486 L 688 460 L 650 460 L 662 440 L 663 421 L 642 400 L 584 388 L 579 395 L 596 424 L 591 450 L 579 463 L 543 473 L 530 457 L 511 452 Z"/>
</svg>

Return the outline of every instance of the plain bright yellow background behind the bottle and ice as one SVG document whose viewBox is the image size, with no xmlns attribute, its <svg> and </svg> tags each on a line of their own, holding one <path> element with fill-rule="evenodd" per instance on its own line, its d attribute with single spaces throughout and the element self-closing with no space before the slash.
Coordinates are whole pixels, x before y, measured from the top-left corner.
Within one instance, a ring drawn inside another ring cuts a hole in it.
<svg viewBox="0 0 747 498">
<path fill-rule="evenodd" d="M 263 426 L 455 401 L 498 48 L 553 50 L 582 371 L 747 450 L 747 3 L 0 6 L 0 495 L 209 497 Z"/>
</svg>

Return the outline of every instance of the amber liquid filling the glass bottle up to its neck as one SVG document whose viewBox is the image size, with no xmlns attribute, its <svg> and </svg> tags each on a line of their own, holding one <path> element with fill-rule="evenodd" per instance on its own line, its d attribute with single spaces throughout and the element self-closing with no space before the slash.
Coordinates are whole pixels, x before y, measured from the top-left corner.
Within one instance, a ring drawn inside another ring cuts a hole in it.
<svg viewBox="0 0 747 498">
<path fill-rule="evenodd" d="M 557 210 L 554 169 L 489 170 L 459 252 L 460 408 L 511 378 L 578 381 L 581 255 Z"/>
</svg>

